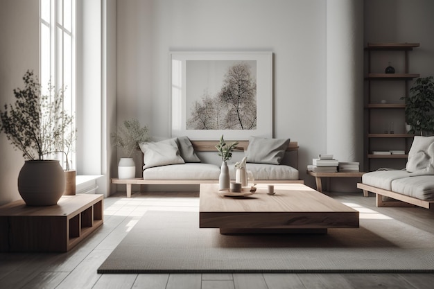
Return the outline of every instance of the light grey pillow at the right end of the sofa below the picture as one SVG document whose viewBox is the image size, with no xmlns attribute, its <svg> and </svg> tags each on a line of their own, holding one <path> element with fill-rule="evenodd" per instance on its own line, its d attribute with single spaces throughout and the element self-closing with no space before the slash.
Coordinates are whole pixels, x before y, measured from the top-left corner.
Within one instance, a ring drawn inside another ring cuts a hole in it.
<svg viewBox="0 0 434 289">
<path fill-rule="evenodd" d="M 280 164 L 288 146 L 289 139 L 250 137 L 245 157 L 248 163 Z"/>
</svg>

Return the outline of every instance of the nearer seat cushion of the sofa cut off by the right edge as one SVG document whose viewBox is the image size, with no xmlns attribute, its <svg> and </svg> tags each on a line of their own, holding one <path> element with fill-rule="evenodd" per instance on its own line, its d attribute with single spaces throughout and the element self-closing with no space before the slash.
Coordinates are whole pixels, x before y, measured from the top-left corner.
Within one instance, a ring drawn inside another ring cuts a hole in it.
<svg viewBox="0 0 434 289">
<path fill-rule="evenodd" d="M 434 175 L 394 179 L 392 181 L 392 191 L 419 200 L 434 200 Z"/>
</svg>

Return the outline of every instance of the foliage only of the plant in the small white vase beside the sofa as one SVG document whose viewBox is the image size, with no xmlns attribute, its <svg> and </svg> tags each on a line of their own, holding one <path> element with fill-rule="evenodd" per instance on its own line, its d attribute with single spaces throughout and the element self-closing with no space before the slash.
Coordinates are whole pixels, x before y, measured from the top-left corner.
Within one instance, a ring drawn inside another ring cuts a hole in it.
<svg viewBox="0 0 434 289">
<path fill-rule="evenodd" d="M 140 150 L 140 143 L 149 141 L 148 127 L 141 127 L 137 119 L 123 121 L 123 126 L 112 133 L 112 139 L 113 146 L 121 148 L 126 157 L 131 157 L 135 150 Z"/>
</svg>

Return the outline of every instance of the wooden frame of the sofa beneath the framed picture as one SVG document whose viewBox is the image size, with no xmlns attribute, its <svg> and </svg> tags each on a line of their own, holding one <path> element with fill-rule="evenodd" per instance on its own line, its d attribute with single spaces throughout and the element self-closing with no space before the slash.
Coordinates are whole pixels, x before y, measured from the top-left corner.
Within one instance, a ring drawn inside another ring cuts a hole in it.
<svg viewBox="0 0 434 289">
<path fill-rule="evenodd" d="M 193 148 L 196 152 L 217 152 L 216 145 L 218 141 L 191 141 Z M 238 141 L 238 146 L 235 150 L 246 150 L 249 141 Z M 296 168 L 298 168 L 298 143 L 297 141 L 290 141 L 287 152 L 296 152 Z M 134 179 L 111 179 L 112 184 L 125 184 L 127 198 L 131 198 L 131 191 L 133 184 L 214 184 L 218 183 L 218 179 L 143 179 L 137 177 Z M 304 184 L 302 179 L 255 179 L 254 182 L 258 184 L 273 183 L 273 184 Z"/>
</svg>

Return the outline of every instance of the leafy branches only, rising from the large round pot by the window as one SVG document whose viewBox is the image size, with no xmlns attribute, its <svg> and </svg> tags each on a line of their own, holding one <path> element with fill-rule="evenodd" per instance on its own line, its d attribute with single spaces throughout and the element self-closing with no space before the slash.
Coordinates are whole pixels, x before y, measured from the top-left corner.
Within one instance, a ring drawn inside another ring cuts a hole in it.
<svg viewBox="0 0 434 289">
<path fill-rule="evenodd" d="M 55 152 L 64 152 L 64 132 L 72 127 L 72 116 L 62 109 L 64 89 L 48 85 L 48 95 L 41 93 L 41 85 L 27 71 L 24 89 L 14 89 L 15 103 L 4 105 L 0 112 L 0 131 L 28 160 L 46 159 Z"/>
</svg>

